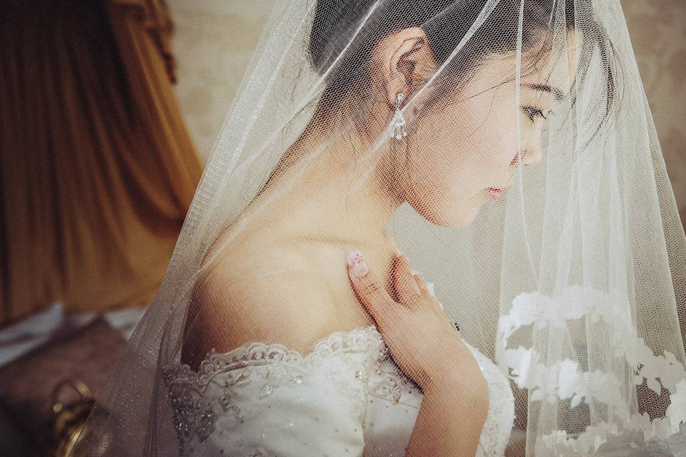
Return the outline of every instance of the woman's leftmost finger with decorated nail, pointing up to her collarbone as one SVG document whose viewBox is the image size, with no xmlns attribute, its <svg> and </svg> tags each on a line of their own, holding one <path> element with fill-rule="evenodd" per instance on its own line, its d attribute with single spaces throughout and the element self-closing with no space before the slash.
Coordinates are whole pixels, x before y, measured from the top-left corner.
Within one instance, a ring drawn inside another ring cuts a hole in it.
<svg viewBox="0 0 686 457">
<path fill-rule="evenodd" d="M 347 256 L 348 276 L 352 282 L 352 288 L 360 303 L 372 315 L 377 323 L 388 317 L 389 309 L 397 303 L 388 295 L 384 286 L 379 283 L 376 275 L 369 271 L 367 263 L 362 258 L 362 253 L 352 251 Z"/>
</svg>

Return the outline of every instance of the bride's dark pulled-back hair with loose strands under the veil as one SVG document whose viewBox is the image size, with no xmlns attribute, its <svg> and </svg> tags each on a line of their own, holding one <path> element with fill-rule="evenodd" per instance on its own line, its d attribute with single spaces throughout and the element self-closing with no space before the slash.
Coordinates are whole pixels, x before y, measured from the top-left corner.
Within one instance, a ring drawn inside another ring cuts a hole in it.
<svg viewBox="0 0 686 457">
<path fill-rule="evenodd" d="M 427 34 L 429 48 L 437 64 L 444 64 L 486 3 L 486 0 L 386 0 L 374 11 L 372 19 L 366 21 L 362 29 L 357 31 L 362 19 L 372 8 L 374 0 L 317 0 L 309 37 L 309 57 L 312 66 L 320 75 L 328 71 L 327 88 L 322 94 L 319 106 L 327 109 L 337 106 L 350 91 L 356 91 L 362 99 L 369 96 L 369 85 L 364 84 L 364 81 L 369 80 L 369 59 L 372 50 L 384 36 L 394 31 L 414 26 L 422 28 Z M 535 66 L 537 59 L 552 49 L 551 20 L 552 24 L 555 24 L 556 19 L 553 17 L 553 8 L 560 2 L 527 0 L 523 3 L 522 53 L 534 51 L 532 66 Z M 484 56 L 515 51 L 520 8 L 522 0 L 500 1 L 484 24 L 465 44 L 459 58 L 454 58 L 447 64 L 434 84 L 449 86 L 457 81 L 465 81 L 470 72 L 482 62 Z M 558 8 L 555 8 L 555 14 L 562 13 L 557 10 Z M 612 69 L 612 43 L 592 14 L 590 1 L 567 1 L 564 15 L 567 31 L 581 28 L 584 32 L 585 41 L 581 49 L 580 65 L 588 64 L 588 56 L 595 46 L 600 50 L 607 77 L 607 106 L 603 118 L 605 121 L 610 114 L 616 90 Z M 384 20 L 374 20 L 376 17 L 383 17 Z M 335 61 L 356 31 L 357 36 L 352 45 L 342 54 L 339 61 Z M 524 65 L 525 61 L 522 59 L 522 73 L 525 73 Z M 585 68 L 580 68 L 577 74 L 585 76 Z M 577 86 L 581 83 L 582 81 L 578 80 L 575 82 Z M 427 101 L 427 108 L 443 93 L 442 90 L 435 91 L 437 97 Z"/>
</svg>

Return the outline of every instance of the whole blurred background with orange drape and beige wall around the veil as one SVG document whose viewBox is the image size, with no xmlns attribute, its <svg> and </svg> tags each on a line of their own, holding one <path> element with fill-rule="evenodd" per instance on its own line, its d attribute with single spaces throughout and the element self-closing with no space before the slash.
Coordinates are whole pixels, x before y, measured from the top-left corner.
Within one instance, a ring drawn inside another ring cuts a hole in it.
<svg viewBox="0 0 686 457">
<path fill-rule="evenodd" d="M 3 2 L 0 456 L 69 455 L 273 1 Z M 622 6 L 686 222 L 686 2 Z"/>
</svg>

